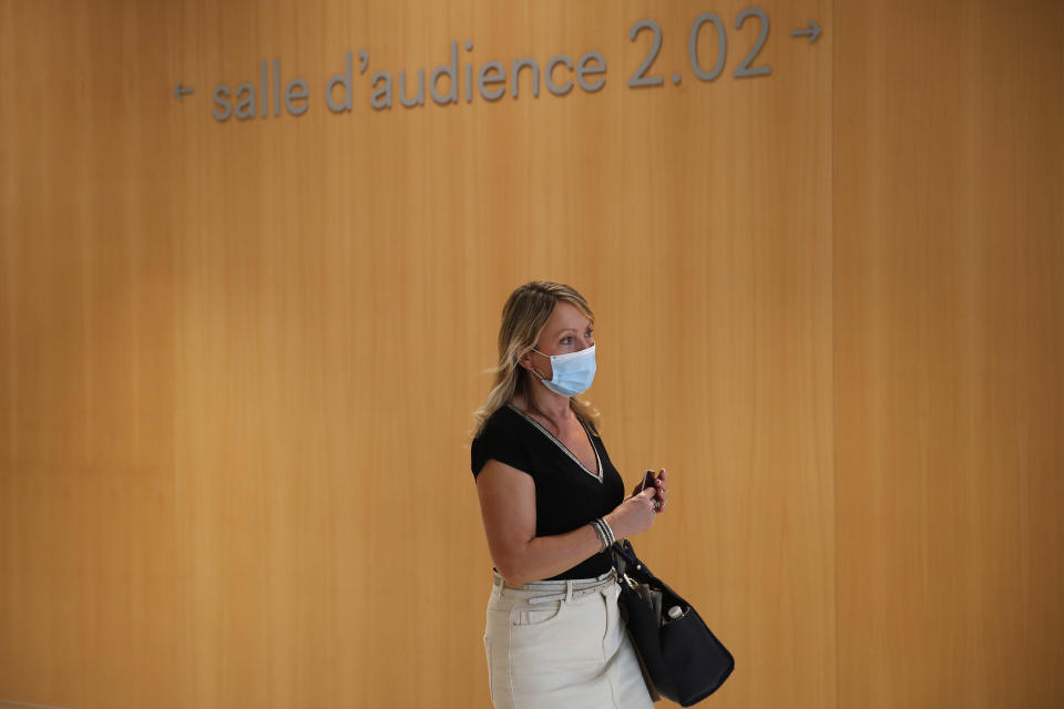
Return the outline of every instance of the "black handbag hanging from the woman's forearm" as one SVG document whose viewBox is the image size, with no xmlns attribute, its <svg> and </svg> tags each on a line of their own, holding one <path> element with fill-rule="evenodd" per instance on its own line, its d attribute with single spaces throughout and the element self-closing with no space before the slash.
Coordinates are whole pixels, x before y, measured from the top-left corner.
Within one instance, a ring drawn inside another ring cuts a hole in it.
<svg viewBox="0 0 1064 709">
<path fill-rule="evenodd" d="M 690 707 L 715 692 L 735 658 L 695 608 L 640 561 L 631 542 L 615 542 L 611 552 L 617 603 L 652 696 Z"/>
</svg>

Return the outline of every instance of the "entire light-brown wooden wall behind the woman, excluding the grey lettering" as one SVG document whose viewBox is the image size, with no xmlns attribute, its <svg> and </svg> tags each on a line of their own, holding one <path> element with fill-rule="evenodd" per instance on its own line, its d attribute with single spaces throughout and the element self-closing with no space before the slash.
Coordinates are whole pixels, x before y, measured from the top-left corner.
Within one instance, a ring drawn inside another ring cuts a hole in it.
<svg viewBox="0 0 1064 709">
<path fill-rule="evenodd" d="M 470 412 L 546 278 L 714 706 L 1061 706 L 1064 6 L 761 3 L 736 79 L 747 7 L 0 0 L 0 703 L 488 706 Z M 467 39 L 606 84 L 369 106 Z M 273 58 L 305 115 L 212 117 Z"/>
</svg>

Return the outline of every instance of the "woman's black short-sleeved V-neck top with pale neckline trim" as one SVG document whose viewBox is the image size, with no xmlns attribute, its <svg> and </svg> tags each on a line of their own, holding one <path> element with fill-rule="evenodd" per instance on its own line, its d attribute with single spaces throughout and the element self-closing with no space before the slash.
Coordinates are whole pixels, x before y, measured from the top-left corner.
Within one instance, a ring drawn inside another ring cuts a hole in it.
<svg viewBox="0 0 1064 709">
<path fill-rule="evenodd" d="M 484 463 L 497 460 L 524 473 L 535 483 L 535 535 L 564 534 L 589 524 L 621 504 L 624 481 L 610 462 L 602 439 L 584 425 L 598 459 L 602 480 L 546 429 L 507 404 L 495 411 L 470 448 L 473 477 Z M 600 552 L 545 580 L 592 578 L 613 566 L 608 552 Z"/>
</svg>

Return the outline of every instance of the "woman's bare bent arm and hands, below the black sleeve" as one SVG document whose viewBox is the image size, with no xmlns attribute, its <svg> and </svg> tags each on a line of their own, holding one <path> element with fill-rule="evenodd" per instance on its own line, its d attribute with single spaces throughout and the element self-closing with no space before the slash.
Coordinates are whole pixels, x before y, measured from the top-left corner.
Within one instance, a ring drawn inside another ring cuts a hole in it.
<svg viewBox="0 0 1064 709">
<path fill-rule="evenodd" d="M 488 551 L 511 586 L 556 576 L 602 549 L 590 524 L 551 536 L 535 536 L 535 483 L 525 473 L 489 460 L 477 475 L 477 494 L 488 535 Z M 654 523 L 654 489 L 628 497 L 605 516 L 616 538 Z"/>
</svg>

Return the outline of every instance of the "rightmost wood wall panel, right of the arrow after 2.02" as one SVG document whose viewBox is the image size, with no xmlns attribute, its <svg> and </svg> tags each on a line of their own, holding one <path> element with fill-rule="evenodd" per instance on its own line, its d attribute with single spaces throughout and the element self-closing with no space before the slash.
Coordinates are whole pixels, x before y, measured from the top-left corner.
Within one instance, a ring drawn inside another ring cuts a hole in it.
<svg viewBox="0 0 1064 709">
<path fill-rule="evenodd" d="M 836 20 L 838 702 L 1060 707 L 1064 13 Z"/>
</svg>

